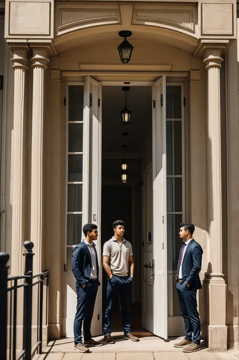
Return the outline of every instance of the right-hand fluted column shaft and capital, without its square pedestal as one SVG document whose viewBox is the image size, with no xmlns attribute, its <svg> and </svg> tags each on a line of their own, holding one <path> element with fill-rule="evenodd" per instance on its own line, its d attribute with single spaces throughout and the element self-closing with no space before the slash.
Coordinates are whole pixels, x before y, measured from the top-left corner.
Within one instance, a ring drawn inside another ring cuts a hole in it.
<svg viewBox="0 0 239 360">
<path fill-rule="evenodd" d="M 221 189 L 221 118 L 220 118 L 220 68 L 221 51 L 208 49 L 204 63 L 208 72 L 208 215 L 210 234 L 211 277 L 222 274 L 222 189 Z"/>
</svg>

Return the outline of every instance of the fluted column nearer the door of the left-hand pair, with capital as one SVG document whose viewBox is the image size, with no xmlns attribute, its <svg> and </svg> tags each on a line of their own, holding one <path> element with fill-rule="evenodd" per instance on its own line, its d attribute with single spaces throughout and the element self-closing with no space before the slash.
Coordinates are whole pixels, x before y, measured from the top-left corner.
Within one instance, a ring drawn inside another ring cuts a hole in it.
<svg viewBox="0 0 239 360">
<path fill-rule="evenodd" d="M 34 274 L 42 269 L 42 182 L 43 182 L 43 121 L 45 70 L 48 52 L 33 49 L 33 99 L 32 99 L 32 164 L 31 164 L 31 241 L 34 244 Z"/>
</svg>

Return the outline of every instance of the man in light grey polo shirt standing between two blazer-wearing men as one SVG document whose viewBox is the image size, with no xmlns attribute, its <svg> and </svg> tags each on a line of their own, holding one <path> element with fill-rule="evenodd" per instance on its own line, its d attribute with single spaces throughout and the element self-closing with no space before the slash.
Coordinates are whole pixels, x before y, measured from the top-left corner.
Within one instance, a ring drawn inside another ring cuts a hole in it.
<svg viewBox="0 0 239 360">
<path fill-rule="evenodd" d="M 130 327 L 131 288 L 134 277 L 132 245 L 123 237 L 125 233 L 124 221 L 116 220 L 112 227 L 114 236 L 103 247 L 103 267 L 108 276 L 104 340 L 109 344 L 114 343 L 110 335 L 111 310 L 117 295 L 120 293 L 124 339 L 139 341 L 138 337 L 131 334 Z"/>
</svg>

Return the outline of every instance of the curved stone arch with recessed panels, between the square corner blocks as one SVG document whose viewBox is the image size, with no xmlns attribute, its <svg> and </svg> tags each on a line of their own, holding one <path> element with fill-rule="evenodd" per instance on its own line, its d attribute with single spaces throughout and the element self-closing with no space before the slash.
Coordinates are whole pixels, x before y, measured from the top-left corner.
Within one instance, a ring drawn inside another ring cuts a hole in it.
<svg viewBox="0 0 239 360">
<path fill-rule="evenodd" d="M 56 3 L 54 45 L 65 51 L 85 42 L 118 38 L 120 30 L 148 34 L 156 42 L 173 42 L 193 51 L 197 45 L 197 6 L 159 4 Z M 141 34 L 141 35 L 139 35 Z M 156 37 L 158 37 L 157 40 Z M 132 37 L 133 40 L 134 37 Z"/>
</svg>

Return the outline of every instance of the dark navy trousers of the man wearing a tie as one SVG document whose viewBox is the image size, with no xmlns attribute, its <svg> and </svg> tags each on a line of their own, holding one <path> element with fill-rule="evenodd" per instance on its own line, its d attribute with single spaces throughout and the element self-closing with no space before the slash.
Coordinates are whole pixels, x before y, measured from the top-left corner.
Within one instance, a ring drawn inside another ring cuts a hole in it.
<svg viewBox="0 0 239 360">
<path fill-rule="evenodd" d="M 190 290 L 186 282 L 177 282 L 177 295 L 185 323 L 185 339 L 200 344 L 201 324 L 197 310 L 197 290 Z M 193 334 L 193 336 L 192 336 Z"/>
</svg>

